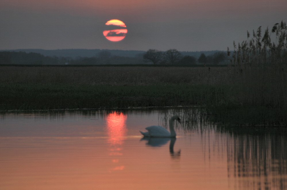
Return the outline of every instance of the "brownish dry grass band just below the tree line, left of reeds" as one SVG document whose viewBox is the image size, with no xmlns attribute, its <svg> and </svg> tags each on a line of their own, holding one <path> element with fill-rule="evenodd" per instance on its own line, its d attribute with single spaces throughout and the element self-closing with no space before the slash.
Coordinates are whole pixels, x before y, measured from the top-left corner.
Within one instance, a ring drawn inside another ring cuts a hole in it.
<svg viewBox="0 0 287 190">
<path fill-rule="evenodd" d="M 25 67 L 1 66 L 1 83 L 71 85 L 221 84 L 227 67 Z"/>
</svg>

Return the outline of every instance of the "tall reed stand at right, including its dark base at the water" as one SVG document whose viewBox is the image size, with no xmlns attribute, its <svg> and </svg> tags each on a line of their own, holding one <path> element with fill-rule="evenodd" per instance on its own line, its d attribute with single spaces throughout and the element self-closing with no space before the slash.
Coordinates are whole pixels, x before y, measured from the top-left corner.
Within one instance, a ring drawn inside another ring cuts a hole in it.
<svg viewBox="0 0 287 190">
<path fill-rule="evenodd" d="M 227 125 L 259 126 L 256 129 L 261 129 L 261 125 L 286 125 L 286 23 L 276 23 L 271 32 L 267 28 L 264 35 L 261 26 L 257 31 L 253 30 L 253 36 L 247 31 L 247 40 L 238 43 L 238 46 L 235 42 L 233 44 L 233 53 L 228 48 L 227 54 L 230 60 L 230 84 L 236 94 L 227 100 L 234 103 L 219 103 L 227 105 L 223 107 L 228 109 L 221 109 L 222 106 L 209 107 L 214 121 Z"/>
</svg>

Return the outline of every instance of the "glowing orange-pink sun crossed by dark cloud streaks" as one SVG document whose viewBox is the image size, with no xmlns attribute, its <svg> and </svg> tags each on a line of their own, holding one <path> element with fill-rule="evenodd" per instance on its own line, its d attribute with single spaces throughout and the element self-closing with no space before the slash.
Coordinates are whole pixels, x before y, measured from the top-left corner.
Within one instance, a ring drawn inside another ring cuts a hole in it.
<svg viewBox="0 0 287 190">
<path fill-rule="evenodd" d="M 112 19 L 106 22 L 107 30 L 103 31 L 104 36 L 107 40 L 112 42 L 119 42 L 126 38 L 128 29 L 126 24 L 118 19 Z"/>
</svg>

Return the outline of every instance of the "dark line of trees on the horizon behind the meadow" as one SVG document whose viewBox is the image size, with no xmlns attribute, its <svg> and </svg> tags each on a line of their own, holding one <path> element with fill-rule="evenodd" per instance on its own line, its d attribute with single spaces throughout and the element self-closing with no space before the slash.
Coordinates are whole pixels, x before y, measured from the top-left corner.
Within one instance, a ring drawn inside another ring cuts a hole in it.
<svg viewBox="0 0 287 190">
<path fill-rule="evenodd" d="M 32 65 L 107 65 L 107 64 L 224 64 L 226 52 L 215 51 L 206 56 L 201 53 L 199 58 L 190 55 L 182 55 L 176 49 L 161 52 L 148 50 L 145 54 L 137 54 L 134 57 L 115 56 L 108 50 L 102 50 L 93 57 L 58 57 L 44 56 L 33 52 L 0 52 L 0 64 L 32 64 Z"/>
</svg>

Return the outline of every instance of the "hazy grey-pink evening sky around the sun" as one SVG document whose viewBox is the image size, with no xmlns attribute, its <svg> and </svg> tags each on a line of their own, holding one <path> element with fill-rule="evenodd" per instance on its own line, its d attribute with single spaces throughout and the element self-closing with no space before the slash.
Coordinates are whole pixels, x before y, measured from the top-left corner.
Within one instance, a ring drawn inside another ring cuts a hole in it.
<svg viewBox="0 0 287 190">
<path fill-rule="evenodd" d="M 121 42 L 103 36 L 122 20 Z M 0 0 L 0 50 L 226 50 L 246 30 L 287 21 L 287 0 Z"/>
</svg>

